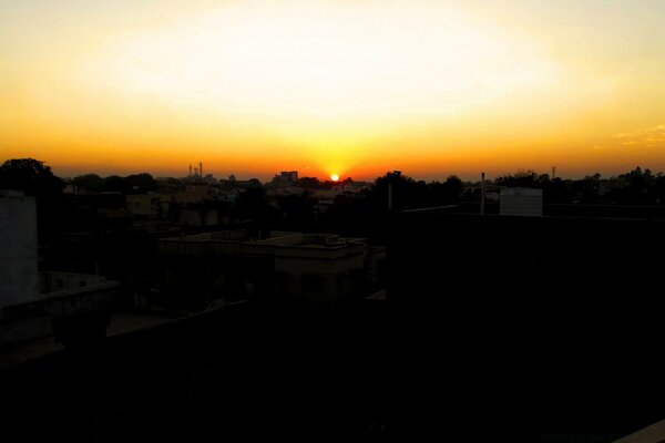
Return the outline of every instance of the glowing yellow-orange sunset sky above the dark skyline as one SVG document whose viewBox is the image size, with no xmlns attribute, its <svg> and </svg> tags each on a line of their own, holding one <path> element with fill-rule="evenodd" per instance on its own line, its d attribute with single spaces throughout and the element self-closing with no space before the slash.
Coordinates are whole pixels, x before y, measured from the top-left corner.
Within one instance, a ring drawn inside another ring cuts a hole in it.
<svg viewBox="0 0 665 443">
<path fill-rule="evenodd" d="M 665 1 L 2 0 L 0 161 L 60 176 L 665 171 Z"/>
</svg>

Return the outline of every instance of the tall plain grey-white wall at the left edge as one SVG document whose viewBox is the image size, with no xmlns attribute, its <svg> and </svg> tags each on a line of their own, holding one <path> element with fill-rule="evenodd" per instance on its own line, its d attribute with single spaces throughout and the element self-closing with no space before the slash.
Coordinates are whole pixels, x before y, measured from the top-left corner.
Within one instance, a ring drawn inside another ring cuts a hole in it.
<svg viewBox="0 0 665 443">
<path fill-rule="evenodd" d="M 37 300 L 37 206 L 33 197 L 0 190 L 0 309 Z"/>
</svg>

